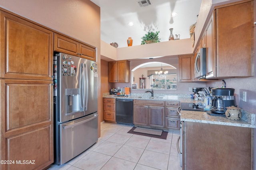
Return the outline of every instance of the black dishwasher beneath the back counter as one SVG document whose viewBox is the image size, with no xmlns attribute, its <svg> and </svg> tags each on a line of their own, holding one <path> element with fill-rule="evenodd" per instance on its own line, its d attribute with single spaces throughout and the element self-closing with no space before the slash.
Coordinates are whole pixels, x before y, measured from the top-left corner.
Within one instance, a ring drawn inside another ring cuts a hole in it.
<svg viewBox="0 0 256 170">
<path fill-rule="evenodd" d="M 116 99 L 116 123 L 133 125 L 132 99 Z"/>
</svg>

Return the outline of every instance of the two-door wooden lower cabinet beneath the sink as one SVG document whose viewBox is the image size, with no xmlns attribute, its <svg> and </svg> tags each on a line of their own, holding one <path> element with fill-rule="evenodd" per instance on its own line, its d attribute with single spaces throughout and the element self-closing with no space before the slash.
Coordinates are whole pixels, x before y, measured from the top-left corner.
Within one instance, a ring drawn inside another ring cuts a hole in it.
<svg viewBox="0 0 256 170">
<path fill-rule="evenodd" d="M 164 127 L 164 101 L 134 100 L 134 125 Z"/>
</svg>

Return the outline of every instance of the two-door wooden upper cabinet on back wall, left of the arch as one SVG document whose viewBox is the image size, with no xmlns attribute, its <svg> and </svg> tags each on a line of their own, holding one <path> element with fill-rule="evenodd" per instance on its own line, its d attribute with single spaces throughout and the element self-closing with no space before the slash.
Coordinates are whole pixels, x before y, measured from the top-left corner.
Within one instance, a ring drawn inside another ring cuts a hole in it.
<svg viewBox="0 0 256 170">
<path fill-rule="evenodd" d="M 130 82 L 130 61 L 120 60 L 108 62 L 108 82 Z"/>
</svg>

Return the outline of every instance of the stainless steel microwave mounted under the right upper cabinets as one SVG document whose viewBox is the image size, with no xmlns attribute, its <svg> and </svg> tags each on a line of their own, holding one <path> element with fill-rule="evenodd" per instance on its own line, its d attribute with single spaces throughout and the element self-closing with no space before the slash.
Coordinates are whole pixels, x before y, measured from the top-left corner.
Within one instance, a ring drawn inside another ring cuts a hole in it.
<svg viewBox="0 0 256 170">
<path fill-rule="evenodd" d="M 196 55 L 195 78 L 206 78 L 206 48 L 201 48 Z"/>
</svg>

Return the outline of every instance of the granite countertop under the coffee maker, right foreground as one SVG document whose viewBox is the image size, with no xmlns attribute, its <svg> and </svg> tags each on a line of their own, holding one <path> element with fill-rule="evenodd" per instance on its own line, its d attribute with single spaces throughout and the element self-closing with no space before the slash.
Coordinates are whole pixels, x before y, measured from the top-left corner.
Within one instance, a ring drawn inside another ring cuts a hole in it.
<svg viewBox="0 0 256 170">
<path fill-rule="evenodd" d="M 254 114 L 255 116 L 255 114 Z M 256 128 L 255 121 L 249 123 L 242 119 L 240 120 L 230 120 L 226 116 L 211 116 L 206 113 L 206 111 L 180 111 L 181 121 L 191 121 L 198 123 L 210 123 L 217 125 L 228 125 L 228 126 L 239 126 L 239 127 L 250 127 Z"/>
</svg>

